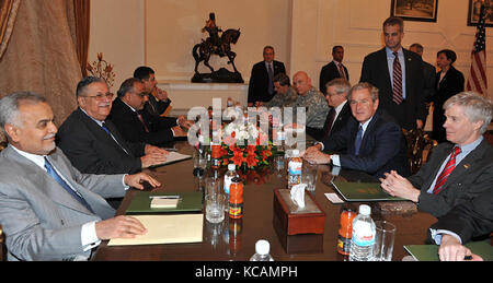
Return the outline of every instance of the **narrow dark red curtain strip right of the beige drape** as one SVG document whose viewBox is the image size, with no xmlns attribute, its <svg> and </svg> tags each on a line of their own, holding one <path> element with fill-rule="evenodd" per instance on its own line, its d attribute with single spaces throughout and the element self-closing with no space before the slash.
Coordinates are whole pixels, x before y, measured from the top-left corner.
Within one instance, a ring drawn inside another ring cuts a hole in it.
<svg viewBox="0 0 493 283">
<path fill-rule="evenodd" d="M 90 0 L 73 0 L 76 25 L 76 51 L 79 59 L 82 76 L 88 75 L 89 28 L 90 28 Z"/>
</svg>

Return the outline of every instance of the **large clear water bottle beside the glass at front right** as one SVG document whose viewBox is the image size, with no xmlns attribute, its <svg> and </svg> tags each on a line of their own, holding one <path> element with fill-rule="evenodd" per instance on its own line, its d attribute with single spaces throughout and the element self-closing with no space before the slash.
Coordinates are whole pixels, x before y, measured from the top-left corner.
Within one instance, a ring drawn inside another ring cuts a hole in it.
<svg viewBox="0 0 493 283">
<path fill-rule="evenodd" d="M 370 207 L 359 205 L 359 214 L 353 221 L 349 261 L 372 260 L 376 229 L 370 213 Z"/>
</svg>

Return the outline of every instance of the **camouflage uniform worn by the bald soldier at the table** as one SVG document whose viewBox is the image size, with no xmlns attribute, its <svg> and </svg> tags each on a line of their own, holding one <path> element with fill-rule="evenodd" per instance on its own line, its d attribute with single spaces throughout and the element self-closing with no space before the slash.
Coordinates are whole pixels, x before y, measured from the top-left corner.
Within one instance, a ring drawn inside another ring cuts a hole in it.
<svg viewBox="0 0 493 283">
<path fill-rule="evenodd" d="M 307 95 L 298 94 L 296 102 L 287 106 L 294 107 L 293 113 L 296 113 L 296 107 L 306 107 L 306 126 L 310 128 L 322 129 L 329 114 L 325 96 L 313 86 L 308 91 Z M 294 115 L 293 117 L 296 122 L 296 116 Z"/>
</svg>

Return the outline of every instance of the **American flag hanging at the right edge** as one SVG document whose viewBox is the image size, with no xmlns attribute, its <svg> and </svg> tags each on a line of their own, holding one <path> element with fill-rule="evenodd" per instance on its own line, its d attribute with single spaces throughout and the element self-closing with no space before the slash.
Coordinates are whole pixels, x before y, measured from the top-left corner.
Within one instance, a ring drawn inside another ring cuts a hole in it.
<svg viewBox="0 0 493 283">
<path fill-rule="evenodd" d="M 486 80 L 486 32 L 485 32 L 485 9 L 481 5 L 479 22 L 475 32 L 474 48 L 471 54 L 471 71 L 466 89 L 488 96 Z"/>
</svg>

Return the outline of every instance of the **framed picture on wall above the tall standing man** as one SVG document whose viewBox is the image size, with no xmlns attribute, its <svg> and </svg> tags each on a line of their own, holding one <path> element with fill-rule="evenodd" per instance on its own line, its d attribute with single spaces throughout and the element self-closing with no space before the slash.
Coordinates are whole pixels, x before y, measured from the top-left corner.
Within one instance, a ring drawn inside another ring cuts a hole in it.
<svg viewBox="0 0 493 283">
<path fill-rule="evenodd" d="M 438 0 L 392 0 L 390 15 L 404 21 L 435 22 Z"/>
</svg>

